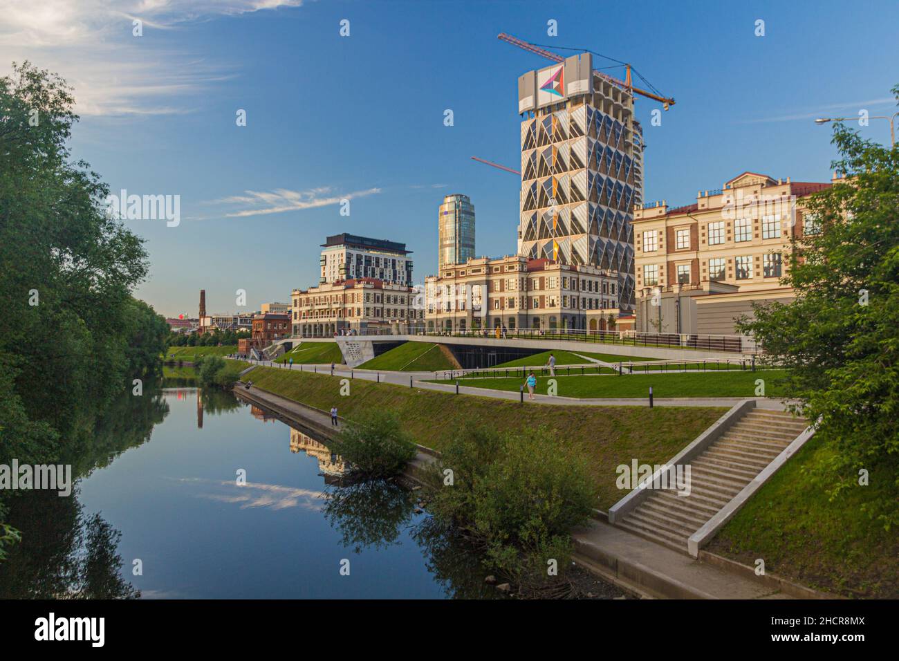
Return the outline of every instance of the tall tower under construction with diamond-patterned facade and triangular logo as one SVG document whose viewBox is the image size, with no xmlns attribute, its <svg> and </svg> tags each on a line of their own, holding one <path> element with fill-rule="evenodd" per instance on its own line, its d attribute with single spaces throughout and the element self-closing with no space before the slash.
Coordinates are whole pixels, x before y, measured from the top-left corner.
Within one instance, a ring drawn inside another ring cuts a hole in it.
<svg viewBox="0 0 899 661">
<path fill-rule="evenodd" d="M 518 254 L 617 272 L 619 304 L 632 308 L 644 147 L 633 94 L 583 53 L 521 76 L 518 98 Z"/>
</svg>

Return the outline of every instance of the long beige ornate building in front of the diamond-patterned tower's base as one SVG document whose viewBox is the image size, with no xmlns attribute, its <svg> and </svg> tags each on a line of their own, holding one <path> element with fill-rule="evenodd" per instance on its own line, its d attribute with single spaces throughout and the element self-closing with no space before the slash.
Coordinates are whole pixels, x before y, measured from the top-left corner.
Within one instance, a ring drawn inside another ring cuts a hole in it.
<svg viewBox="0 0 899 661">
<path fill-rule="evenodd" d="M 619 317 L 619 295 L 618 273 L 590 264 L 470 258 L 425 278 L 425 328 L 604 330 Z"/>
</svg>

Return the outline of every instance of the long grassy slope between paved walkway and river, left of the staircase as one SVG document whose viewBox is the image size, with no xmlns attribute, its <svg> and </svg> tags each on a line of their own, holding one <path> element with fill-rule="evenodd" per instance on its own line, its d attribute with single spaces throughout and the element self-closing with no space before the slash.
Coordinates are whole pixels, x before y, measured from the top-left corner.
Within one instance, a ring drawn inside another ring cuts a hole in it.
<svg viewBox="0 0 899 661">
<path fill-rule="evenodd" d="M 245 378 L 310 406 L 337 406 L 340 415 L 350 419 L 364 410 L 392 409 L 417 442 L 437 450 L 466 421 L 512 433 L 528 433 L 545 424 L 559 434 L 560 442 L 583 448 L 600 486 L 601 509 L 626 494 L 615 487 L 619 464 L 629 465 L 632 459 L 652 464 L 671 459 L 726 410 L 699 406 L 521 406 L 487 397 L 363 380 L 352 380 L 351 396 L 341 397 L 338 377 L 257 367 Z"/>
</svg>

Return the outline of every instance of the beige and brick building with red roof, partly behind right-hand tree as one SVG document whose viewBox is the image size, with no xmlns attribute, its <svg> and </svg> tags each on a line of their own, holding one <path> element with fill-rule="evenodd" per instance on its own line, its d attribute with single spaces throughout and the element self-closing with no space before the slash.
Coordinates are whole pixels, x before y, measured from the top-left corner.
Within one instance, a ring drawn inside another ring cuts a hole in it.
<svg viewBox="0 0 899 661">
<path fill-rule="evenodd" d="M 752 303 L 787 302 L 790 240 L 816 231 L 803 198 L 831 183 L 744 172 L 697 201 L 634 211 L 636 330 L 734 335 Z"/>
</svg>

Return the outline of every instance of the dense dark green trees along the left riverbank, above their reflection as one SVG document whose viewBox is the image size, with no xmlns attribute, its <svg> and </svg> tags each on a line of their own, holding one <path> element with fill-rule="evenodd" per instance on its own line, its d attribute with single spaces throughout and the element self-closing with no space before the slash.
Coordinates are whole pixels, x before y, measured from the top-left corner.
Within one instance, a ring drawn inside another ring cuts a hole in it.
<svg viewBox="0 0 899 661">
<path fill-rule="evenodd" d="M 73 105 L 65 81 L 28 63 L 0 78 L 4 464 L 89 443 L 102 408 L 156 379 L 165 350 L 165 318 L 132 296 L 147 277 L 143 241 L 106 213 L 108 186 L 67 146 Z"/>
</svg>

